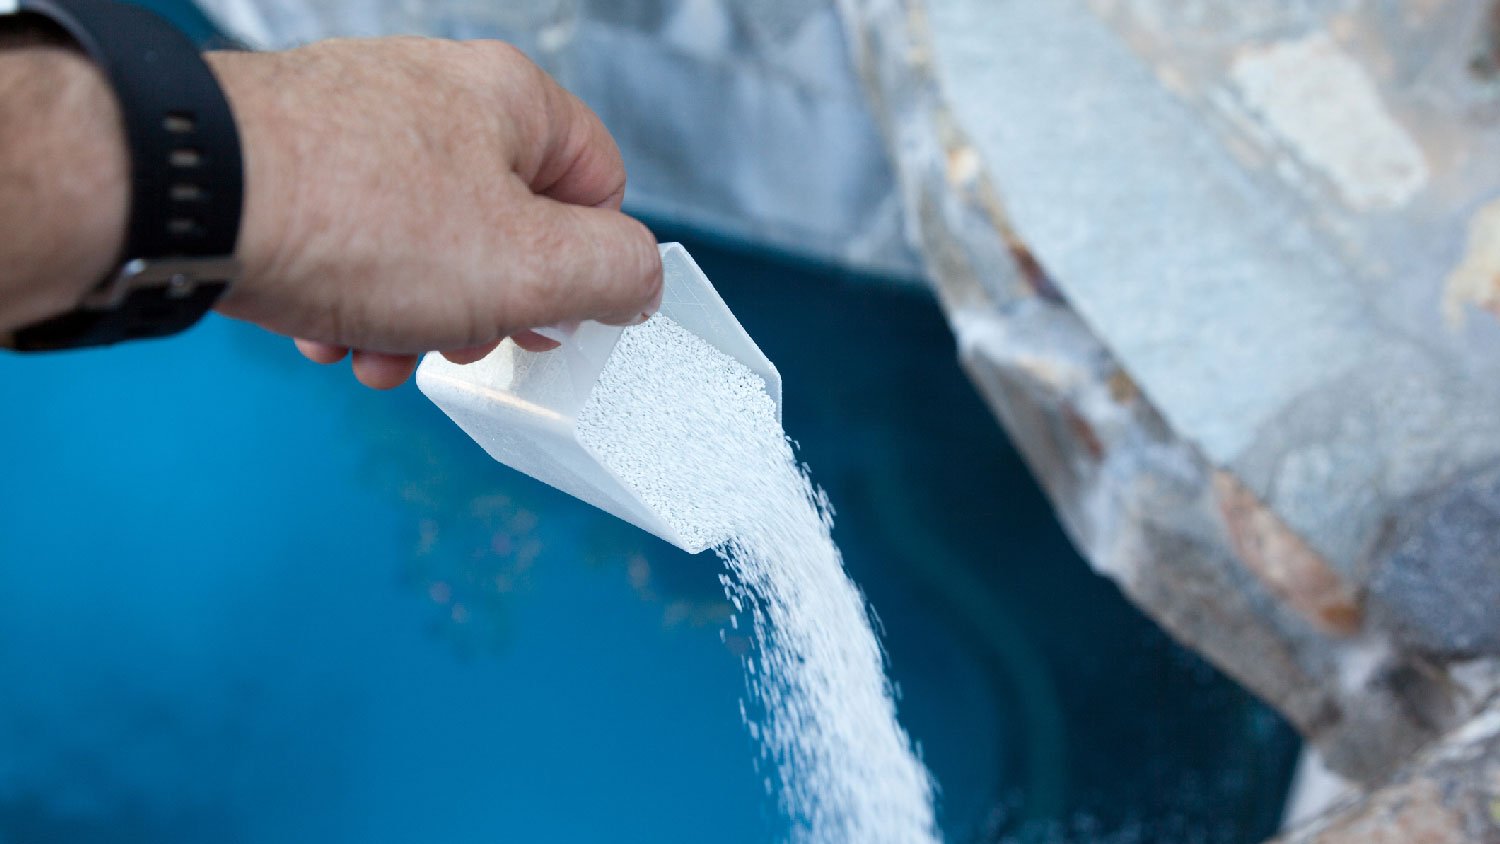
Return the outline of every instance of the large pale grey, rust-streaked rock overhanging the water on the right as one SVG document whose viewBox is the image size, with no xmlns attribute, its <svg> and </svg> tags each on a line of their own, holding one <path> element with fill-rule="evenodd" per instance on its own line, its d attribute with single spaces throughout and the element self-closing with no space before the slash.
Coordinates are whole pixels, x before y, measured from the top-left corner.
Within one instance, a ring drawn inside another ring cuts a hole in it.
<svg viewBox="0 0 1500 844">
<path fill-rule="evenodd" d="M 962 355 L 1094 564 L 1347 777 L 1462 721 L 1450 661 L 1500 654 L 1500 324 L 1443 313 L 1500 192 L 1473 9 L 842 7 Z"/>
</svg>

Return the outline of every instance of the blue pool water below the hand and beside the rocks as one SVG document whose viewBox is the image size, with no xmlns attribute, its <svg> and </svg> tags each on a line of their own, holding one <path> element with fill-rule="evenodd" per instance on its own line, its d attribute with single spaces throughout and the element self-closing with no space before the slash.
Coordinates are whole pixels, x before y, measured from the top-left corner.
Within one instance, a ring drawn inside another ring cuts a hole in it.
<svg viewBox="0 0 1500 844">
<path fill-rule="evenodd" d="M 950 840 L 1269 834 L 1292 733 L 1074 555 L 930 300 L 688 247 L 782 369 Z M 412 387 L 210 318 L 0 355 L 0 843 L 784 831 L 718 562 Z"/>
</svg>

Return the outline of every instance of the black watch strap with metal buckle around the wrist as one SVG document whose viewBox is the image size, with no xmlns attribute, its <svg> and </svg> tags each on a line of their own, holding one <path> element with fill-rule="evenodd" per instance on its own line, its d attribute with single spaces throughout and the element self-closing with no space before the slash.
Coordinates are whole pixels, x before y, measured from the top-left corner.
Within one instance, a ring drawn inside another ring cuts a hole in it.
<svg viewBox="0 0 1500 844">
<path fill-rule="evenodd" d="M 20 0 L 99 64 L 120 102 L 130 211 L 120 267 L 76 310 L 15 333 L 21 351 L 176 334 L 237 276 L 244 172 L 234 114 L 198 48 L 158 15 L 111 0 Z"/>
</svg>

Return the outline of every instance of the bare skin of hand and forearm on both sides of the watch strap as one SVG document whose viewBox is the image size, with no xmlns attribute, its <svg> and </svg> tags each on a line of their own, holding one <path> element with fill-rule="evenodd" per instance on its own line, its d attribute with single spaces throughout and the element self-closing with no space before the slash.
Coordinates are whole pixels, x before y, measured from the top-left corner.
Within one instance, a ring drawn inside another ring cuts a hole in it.
<svg viewBox="0 0 1500 844">
<path fill-rule="evenodd" d="M 656 240 L 576 97 L 500 42 L 388 37 L 210 52 L 244 154 L 243 276 L 226 316 L 352 351 L 390 388 L 531 328 L 633 324 L 660 304 Z M 0 334 L 70 310 L 122 259 L 118 105 L 76 51 L 0 42 Z"/>
</svg>

